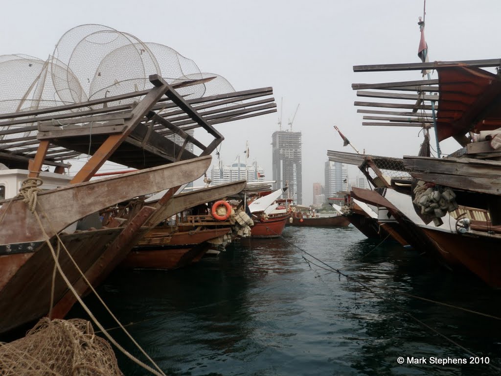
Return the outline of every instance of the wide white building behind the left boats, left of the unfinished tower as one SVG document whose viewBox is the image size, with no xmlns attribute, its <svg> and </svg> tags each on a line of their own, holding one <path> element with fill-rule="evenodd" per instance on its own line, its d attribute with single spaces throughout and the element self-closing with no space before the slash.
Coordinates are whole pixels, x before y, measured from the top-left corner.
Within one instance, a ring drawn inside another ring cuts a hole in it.
<svg viewBox="0 0 501 376">
<path fill-rule="evenodd" d="M 248 162 L 247 162 L 248 163 Z M 245 177 L 245 174 L 247 177 Z M 248 182 L 264 181 L 265 170 L 255 161 L 248 164 L 245 168 L 245 162 L 238 160 L 238 157 L 231 164 L 212 166 L 211 176 L 212 184 L 229 183 L 231 181 L 247 179 Z"/>
</svg>

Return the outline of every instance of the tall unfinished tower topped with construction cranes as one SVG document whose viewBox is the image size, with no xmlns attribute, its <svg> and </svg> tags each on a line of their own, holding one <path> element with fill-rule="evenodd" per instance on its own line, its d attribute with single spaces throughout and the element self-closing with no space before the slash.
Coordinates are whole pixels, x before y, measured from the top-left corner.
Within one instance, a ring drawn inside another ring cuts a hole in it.
<svg viewBox="0 0 501 376">
<path fill-rule="evenodd" d="M 303 204 L 301 132 L 279 130 L 272 135 L 272 166 L 275 189 L 289 184 L 291 198 Z"/>
</svg>

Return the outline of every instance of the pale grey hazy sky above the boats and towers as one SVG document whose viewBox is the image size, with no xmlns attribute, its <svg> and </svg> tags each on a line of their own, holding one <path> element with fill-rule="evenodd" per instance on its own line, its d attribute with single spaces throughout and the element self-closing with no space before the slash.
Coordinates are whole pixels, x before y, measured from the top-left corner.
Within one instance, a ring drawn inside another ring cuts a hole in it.
<svg viewBox="0 0 501 376">
<path fill-rule="evenodd" d="M 59 38 L 82 24 L 102 24 L 156 42 L 194 60 L 202 72 L 224 76 L 235 90 L 273 86 L 284 98 L 287 124 L 301 104 L 293 130 L 303 134 L 303 201 L 324 183 L 327 149 L 346 150 L 333 129 L 367 153 L 416 153 L 418 129 L 363 127 L 353 102 L 354 82 L 420 79 L 419 72 L 353 73 L 359 64 L 419 62 L 422 0 L 367 1 L 32 1 L 4 2 L 0 55 L 47 59 Z M 428 0 L 426 41 L 433 60 L 499 58 L 499 0 Z M 436 78 L 436 74 L 433 75 Z M 363 100 L 363 99 L 360 99 Z M 223 162 L 249 142 L 250 161 L 271 169 L 271 135 L 278 114 L 221 124 Z M 446 142 L 444 153 L 458 145 Z M 350 169 L 355 177 L 356 169 Z"/>
</svg>

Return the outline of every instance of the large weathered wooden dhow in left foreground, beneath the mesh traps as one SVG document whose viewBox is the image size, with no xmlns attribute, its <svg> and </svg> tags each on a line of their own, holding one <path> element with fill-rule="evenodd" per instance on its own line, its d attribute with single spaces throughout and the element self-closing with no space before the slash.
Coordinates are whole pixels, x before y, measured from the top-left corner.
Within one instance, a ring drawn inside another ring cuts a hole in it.
<svg viewBox="0 0 501 376">
<path fill-rule="evenodd" d="M 29 170 L 29 177 L 38 177 L 42 166 L 53 166 L 56 172 L 63 172 L 68 166 L 63 160 L 82 153 L 91 155 L 71 178 L 71 185 L 38 193 L 37 205 L 33 207 L 42 210 L 41 226 L 21 199 L 3 202 L 0 333 L 35 320 L 51 308 L 51 317 L 63 317 L 77 300 L 75 294 L 85 294 L 89 283 L 99 284 L 148 229 L 175 214 L 169 209 L 172 196 L 180 185 L 203 174 L 210 164 L 209 154 L 223 140 L 212 124 L 270 111 L 270 106 L 266 110 L 259 106 L 262 102 L 247 101 L 248 107 L 243 110 L 229 106 L 217 110 L 216 115 L 212 112 L 204 117 L 194 104 L 202 103 L 199 107 L 207 110 L 212 106 L 220 108 L 228 100 L 248 100 L 271 93 L 271 89 L 233 92 L 189 103 L 176 92 L 176 88 L 206 81 L 169 85 L 160 76 L 152 75 L 153 89 L 0 114 L 3 120 L 0 133 L 9 135 L 0 140 L 0 161 L 10 168 Z M 186 132 L 189 127 L 205 129 L 213 141 L 203 145 Z M 179 145 L 168 138 L 172 135 L 181 137 L 184 143 Z M 200 157 L 187 149 L 188 143 L 200 150 Z M 142 170 L 89 181 L 106 161 Z M 108 206 L 165 189 L 167 192 L 157 203 L 142 206 L 131 218 L 117 221 L 115 227 L 91 227 L 59 235 L 75 221 L 95 216 Z M 58 236 L 68 249 L 68 253 L 61 251 L 56 258 L 68 282 L 56 274 L 53 283 L 55 259 L 44 241 L 49 239 L 56 244 Z M 14 249 L 17 251 L 12 252 Z M 51 307 L 52 284 L 54 307 Z"/>
</svg>

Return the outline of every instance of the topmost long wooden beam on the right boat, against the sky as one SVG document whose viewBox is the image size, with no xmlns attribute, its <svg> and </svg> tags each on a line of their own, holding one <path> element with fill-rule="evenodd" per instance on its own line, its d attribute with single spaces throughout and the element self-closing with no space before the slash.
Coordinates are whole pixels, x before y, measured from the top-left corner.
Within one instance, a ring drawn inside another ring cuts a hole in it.
<svg viewBox="0 0 501 376">
<path fill-rule="evenodd" d="M 421 71 L 424 69 L 435 69 L 440 66 L 458 63 L 478 68 L 498 67 L 501 65 L 501 59 L 435 61 L 431 63 L 354 65 L 353 72 Z"/>
</svg>

